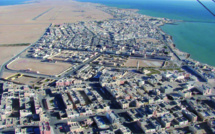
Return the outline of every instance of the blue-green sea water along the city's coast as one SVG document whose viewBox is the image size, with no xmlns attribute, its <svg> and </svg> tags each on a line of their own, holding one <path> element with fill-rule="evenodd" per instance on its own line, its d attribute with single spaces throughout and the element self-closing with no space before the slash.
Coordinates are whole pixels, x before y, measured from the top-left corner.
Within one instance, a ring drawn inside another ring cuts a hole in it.
<svg viewBox="0 0 215 134">
<path fill-rule="evenodd" d="M 196 0 L 78 0 L 118 8 L 139 9 L 139 13 L 184 20 L 161 28 L 173 36 L 176 47 L 191 58 L 215 66 L 215 17 Z M 201 0 L 215 13 L 215 2 Z"/>
</svg>

